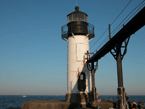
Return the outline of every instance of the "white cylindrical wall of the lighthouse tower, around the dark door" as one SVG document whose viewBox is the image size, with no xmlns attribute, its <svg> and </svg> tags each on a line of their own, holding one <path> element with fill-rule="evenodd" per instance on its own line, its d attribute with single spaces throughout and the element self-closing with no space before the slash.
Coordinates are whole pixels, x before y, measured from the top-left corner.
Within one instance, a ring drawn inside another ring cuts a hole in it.
<svg viewBox="0 0 145 109">
<path fill-rule="evenodd" d="M 68 38 L 68 72 L 67 92 L 80 93 L 78 90 L 78 77 L 81 72 L 86 74 L 86 93 L 92 90 L 91 73 L 87 69 L 85 53 L 89 51 L 89 39 L 84 35 L 74 35 Z"/>
</svg>

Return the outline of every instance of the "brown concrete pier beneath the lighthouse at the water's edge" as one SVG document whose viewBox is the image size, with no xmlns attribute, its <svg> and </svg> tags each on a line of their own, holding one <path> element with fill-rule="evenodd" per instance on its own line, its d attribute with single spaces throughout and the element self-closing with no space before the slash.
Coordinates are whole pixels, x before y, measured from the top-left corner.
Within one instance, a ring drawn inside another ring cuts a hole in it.
<svg viewBox="0 0 145 109">
<path fill-rule="evenodd" d="M 31 100 L 28 102 L 22 103 L 21 109 L 93 109 L 94 107 L 99 107 L 101 109 L 113 108 L 113 103 L 109 101 L 96 102 L 93 104 L 94 107 L 86 103 L 78 102 L 65 102 L 65 101 L 56 101 L 56 100 Z"/>
</svg>

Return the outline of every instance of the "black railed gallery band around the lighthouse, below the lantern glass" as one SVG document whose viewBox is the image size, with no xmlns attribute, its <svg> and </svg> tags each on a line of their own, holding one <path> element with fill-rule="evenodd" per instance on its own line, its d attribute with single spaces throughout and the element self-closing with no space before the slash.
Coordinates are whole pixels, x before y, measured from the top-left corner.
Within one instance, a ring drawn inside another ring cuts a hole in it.
<svg viewBox="0 0 145 109">
<path fill-rule="evenodd" d="M 87 23 L 87 25 L 84 26 L 84 23 L 70 23 L 63 25 L 61 27 L 61 38 L 64 40 L 68 40 L 68 37 L 72 36 L 72 33 L 74 35 L 88 35 L 89 40 L 94 38 L 94 26 L 92 24 Z"/>
</svg>

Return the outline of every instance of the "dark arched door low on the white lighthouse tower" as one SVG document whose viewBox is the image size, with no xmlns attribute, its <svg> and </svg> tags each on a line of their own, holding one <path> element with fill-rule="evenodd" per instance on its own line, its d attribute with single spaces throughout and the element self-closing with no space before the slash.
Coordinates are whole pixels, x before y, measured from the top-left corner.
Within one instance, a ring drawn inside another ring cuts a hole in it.
<svg viewBox="0 0 145 109">
<path fill-rule="evenodd" d="M 86 90 L 86 74 L 82 72 L 78 78 L 78 90 L 85 91 Z"/>
</svg>

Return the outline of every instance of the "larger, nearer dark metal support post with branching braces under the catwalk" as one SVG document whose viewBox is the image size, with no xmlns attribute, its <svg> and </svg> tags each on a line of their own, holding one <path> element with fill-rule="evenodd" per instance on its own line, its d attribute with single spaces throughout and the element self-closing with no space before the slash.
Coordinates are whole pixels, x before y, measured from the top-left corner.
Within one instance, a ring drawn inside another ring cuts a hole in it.
<svg viewBox="0 0 145 109">
<path fill-rule="evenodd" d="M 111 39 L 110 25 L 109 25 L 109 39 Z M 110 51 L 117 62 L 117 79 L 118 79 L 118 109 L 126 109 L 126 98 L 125 98 L 125 88 L 123 87 L 123 73 L 122 73 L 122 59 L 127 52 L 127 45 L 130 37 L 128 37 L 124 43 L 125 46 L 122 46 L 122 43 L 117 43 L 116 46 L 112 49 L 114 52 Z M 121 48 L 124 48 L 123 54 L 121 54 Z"/>
</svg>

